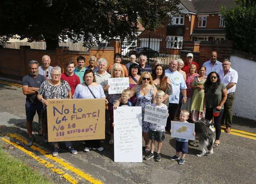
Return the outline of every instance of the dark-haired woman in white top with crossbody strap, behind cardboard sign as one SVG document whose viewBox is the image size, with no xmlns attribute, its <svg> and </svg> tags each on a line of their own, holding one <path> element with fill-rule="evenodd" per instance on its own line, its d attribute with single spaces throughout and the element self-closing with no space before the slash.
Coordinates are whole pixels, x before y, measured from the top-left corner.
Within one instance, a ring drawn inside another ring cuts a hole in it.
<svg viewBox="0 0 256 184">
<path fill-rule="evenodd" d="M 102 98 L 105 99 L 103 88 L 100 84 L 96 83 L 93 70 L 89 69 L 84 72 L 84 83 L 76 86 L 73 98 L 76 99 L 94 99 Z M 106 101 L 107 103 L 107 101 Z M 85 141 L 84 152 L 89 152 L 90 149 L 97 149 L 103 151 L 103 147 L 100 146 L 100 140 L 88 140 Z"/>
</svg>

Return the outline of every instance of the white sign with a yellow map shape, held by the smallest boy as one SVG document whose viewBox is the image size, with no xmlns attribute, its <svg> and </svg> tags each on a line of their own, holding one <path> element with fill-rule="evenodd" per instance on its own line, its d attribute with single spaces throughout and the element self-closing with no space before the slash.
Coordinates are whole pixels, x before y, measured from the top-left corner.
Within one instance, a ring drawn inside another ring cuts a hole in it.
<svg viewBox="0 0 256 184">
<path fill-rule="evenodd" d="M 171 121 L 171 129 L 173 130 L 171 137 L 195 140 L 193 133 L 195 132 L 194 123 L 184 123 L 180 121 Z"/>
</svg>

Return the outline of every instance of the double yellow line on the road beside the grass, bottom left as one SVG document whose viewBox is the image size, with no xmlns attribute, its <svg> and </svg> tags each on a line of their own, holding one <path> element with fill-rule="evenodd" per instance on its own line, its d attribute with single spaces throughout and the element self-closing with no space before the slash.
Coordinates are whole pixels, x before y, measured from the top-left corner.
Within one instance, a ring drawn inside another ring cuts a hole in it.
<svg viewBox="0 0 256 184">
<path fill-rule="evenodd" d="M 8 134 L 6 135 L 10 138 L 15 138 L 18 141 L 21 141 L 23 144 L 27 144 L 27 141 L 16 134 Z M 96 178 L 91 177 L 89 174 L 84 173 L 82 170 L 77 169 L 76 167 L 72 166 L 70 163 L 66 162 L 63 159 L 59 159 L 58 157 L 54 157 L 51 155 L 51 153 L 49 153 L 48 151 L 45 151 L 44 149 L 40 148 L 40 146 L 35 146 L 32 145 L 30 146 L 31 149 L 33 149 L 34 151 L 37 151 L 39 153 L 41 153 L 42 155 L 44 155 L 46 158 L 49 158 L 51 160 L 54 160 L 56 163 L 58 163 L 60 166 L 62 166 L 62 169 L 59 169 L 57 166 L 55 166 L 53 163 L 50 163 L 42 158 L 40 158 L 39 156 L 35 155 L 35 153 L 26 150 L 25 148 L 23 148 L 22 146 L 9 141 L 6 138 L 2 138 L 3 141 L 7 142 L 8 144 L 11 144 L 13 146 L 15 146 L 17 149 L 20 149 L 21 151 L 27 153 L 29 156 L 31 156 L 32 158 L 34 158 L 35 160 L 38 161 L 38 163 L 44 164 L 45 167 L 51 169 L 53 172 L 60 174 L 63 178 L 65 178 L 67 181 L 69 181 L 72 184 L 77 184 L 78 181 L 70 176 L 68 173 L 66 173 L 64 170 L 69 170 L 72 171 L 73 173 L 75 173 L 78 177 L 82 177 L 85 180 L 89 181 L 90 183 L 93 184 L 101 184 L 102 182 L 100 180 L 97 180 Z"/>
</svg>

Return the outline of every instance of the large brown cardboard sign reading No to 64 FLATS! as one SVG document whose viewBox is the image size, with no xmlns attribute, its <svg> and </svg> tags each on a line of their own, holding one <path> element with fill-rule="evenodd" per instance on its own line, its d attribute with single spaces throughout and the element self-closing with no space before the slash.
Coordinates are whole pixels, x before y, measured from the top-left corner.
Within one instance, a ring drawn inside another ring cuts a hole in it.
<svg viewBox="0 0 256 184">
<path fill-rule="evenodd" d="M 48 141 L 105 139 L 105 99 L 48 99 Z"/>
</svg>

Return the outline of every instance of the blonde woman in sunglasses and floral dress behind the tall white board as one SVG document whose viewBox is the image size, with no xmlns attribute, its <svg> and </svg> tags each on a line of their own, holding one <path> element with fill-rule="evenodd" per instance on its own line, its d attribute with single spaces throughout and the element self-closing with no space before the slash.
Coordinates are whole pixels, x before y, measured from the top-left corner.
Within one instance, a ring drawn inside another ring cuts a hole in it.
<svg viewBox="0 0 256 184">
<path fill-rule="evenodd" d="M 137 100 L 135 106 L 142 107 L 142 136 L 145 141 L 145 152 L 150 151 L 149 145 L 149 123 L 144 121 L 145 105 L 155 103 L 155 95 L 158 90 L 156 89 L 152 76 L 149 72 L 145 71 L 139 78 L 138 85 L 131 89 L 131 96 L 136 95 Z"/>
</svg>

